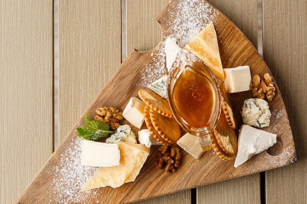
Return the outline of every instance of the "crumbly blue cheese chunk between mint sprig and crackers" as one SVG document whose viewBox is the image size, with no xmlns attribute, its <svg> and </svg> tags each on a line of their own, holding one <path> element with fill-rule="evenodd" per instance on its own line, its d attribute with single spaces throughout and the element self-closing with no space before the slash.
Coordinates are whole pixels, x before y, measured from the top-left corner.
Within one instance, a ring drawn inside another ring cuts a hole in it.
<svg viewBox="0 0 307 204">
<path fill-rule="evenodd" d="M 105 140 L 105 143 L 115 143 L 116 141 L 124 141 L 137 143 L 135 134 L 131 131 L 129 125 L 120 125 L 113 135 Z"/>
</svg>

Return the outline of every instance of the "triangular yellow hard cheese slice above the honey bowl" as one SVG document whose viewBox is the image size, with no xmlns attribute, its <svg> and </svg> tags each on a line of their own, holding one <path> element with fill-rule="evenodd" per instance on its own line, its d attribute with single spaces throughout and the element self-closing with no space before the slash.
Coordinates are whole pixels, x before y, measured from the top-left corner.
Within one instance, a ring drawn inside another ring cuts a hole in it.
<svg viewBox="0 0 307 204">
<path fill-rule="evenodd" d="M 211 69 L 213 74 L 221 80 L 225 80 L 219 45 L 213 23 L 207 26 L 187 45 L 183 47 L 201 60 Z"/>
</svg>

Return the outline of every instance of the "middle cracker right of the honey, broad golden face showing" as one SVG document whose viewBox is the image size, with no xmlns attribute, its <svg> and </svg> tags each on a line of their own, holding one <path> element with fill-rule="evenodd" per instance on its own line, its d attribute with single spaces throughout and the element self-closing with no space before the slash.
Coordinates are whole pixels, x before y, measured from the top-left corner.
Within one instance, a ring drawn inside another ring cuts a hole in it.
<svg viewBox="0 0 307 204">
<path fill-rule="evenodd" d="M 225 114 L 221 111 L 219 121 L 213 130 L 215 139 L 220 148 L 227 155 L 235 155 L 238 149 L 238 138 L 234 130 L 232 130 L 227 123 Z"/>
</svg>

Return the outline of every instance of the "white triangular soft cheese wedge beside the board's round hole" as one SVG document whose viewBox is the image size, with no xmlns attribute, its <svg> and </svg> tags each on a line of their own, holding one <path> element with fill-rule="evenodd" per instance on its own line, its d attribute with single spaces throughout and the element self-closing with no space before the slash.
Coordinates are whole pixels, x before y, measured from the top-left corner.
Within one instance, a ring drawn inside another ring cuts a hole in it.
<svg viewBox="0 0 307 204">
<path fill-rule="evenodd" d="M 234 167 L 238 167 L 256 154 L 272 147 L 276 143 L 276 134 L 242 125 L 238 138 L 238 152 Z"/>
</svg>

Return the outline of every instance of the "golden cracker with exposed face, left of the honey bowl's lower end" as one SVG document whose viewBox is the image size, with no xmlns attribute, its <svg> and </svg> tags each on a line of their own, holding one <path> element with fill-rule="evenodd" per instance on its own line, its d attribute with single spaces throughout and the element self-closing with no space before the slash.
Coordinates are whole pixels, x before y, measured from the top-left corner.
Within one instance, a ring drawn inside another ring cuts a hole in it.
<svg viewBox="0 0 307 204">
<path fill-rule="evenodd" d="M 175 118 L 166 117 L 153 109 L 149 110 L 150 119 L 156 132 L 166 141 L 176 143 L 180 136 L 180 127 Z"/>
</svg>

